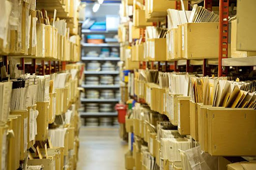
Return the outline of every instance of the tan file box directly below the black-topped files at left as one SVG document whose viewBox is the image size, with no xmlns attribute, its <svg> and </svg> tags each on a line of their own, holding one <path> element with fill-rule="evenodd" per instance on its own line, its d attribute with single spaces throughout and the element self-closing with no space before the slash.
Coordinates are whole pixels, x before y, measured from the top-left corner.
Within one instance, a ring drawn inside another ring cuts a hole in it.
<svg viewBox="0 0 256 170">
<path fill-rule="evenodd" d="M 10 115 L 20 115 L 20 152 L 19 152 L 19 160 L 22 161 L 25 159 L 26 150 L 27 150 L 27 125 L 28 125 L 28 110 L 20 110 L 20 111 L 10 111 Z"/>
</svg>

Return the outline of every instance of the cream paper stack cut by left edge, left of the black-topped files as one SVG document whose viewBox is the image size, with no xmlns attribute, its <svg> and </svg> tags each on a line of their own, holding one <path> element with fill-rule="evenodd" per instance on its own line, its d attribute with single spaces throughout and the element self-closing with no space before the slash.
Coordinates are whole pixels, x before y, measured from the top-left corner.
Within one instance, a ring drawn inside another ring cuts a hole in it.
<svg viewBox="0 0 256 170">
<path fill-rule="evenodd" d="M 10 111 L 12 82 L 0 82 L 0 121 L 7 121 Z"/>
</svg>

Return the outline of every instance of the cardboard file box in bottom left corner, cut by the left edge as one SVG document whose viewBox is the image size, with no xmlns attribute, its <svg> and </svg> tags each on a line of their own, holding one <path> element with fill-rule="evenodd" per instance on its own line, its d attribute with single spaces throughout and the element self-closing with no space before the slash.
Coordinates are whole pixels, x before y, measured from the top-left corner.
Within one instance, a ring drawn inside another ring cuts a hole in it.
<svg viewBox="0 0 256 170">
<path fill-rule="evenodd" d="M 3 161 L 0 161 L 0 166 L 3 170 L 7 170 L 7 154 L 6 150 L 8 148 L 7 146 L 7 131 L 8 131 L 8 125 L 6 123 L 0 123 L 0 152 L 5 154 L 0 154 L 0 159 Z"/>
</svg>

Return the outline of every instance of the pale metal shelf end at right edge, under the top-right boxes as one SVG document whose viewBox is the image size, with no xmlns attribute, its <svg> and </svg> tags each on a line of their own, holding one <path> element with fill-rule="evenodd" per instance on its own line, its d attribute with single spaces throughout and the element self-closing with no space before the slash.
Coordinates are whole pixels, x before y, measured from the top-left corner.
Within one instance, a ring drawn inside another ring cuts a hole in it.
<svg viewBox="0 0 256 170">
<path fill-rule="evenodd" d="M 256 66 L 256 56 L 243 58 L 222 58 L 222 66 Z"/>
</svg>

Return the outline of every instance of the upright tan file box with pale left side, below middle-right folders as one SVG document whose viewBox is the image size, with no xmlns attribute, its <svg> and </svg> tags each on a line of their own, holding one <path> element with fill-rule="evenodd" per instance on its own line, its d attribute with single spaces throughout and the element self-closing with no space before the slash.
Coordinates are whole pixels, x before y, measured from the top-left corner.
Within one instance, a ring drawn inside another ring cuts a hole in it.
<svg viewBox="0 0 256 170">
<path fill-rule="evenodd" d="M 189 99 L 190 97 L 177 97 L 178 133 L 180 135 L 190 134 Z"/>
</svg>

